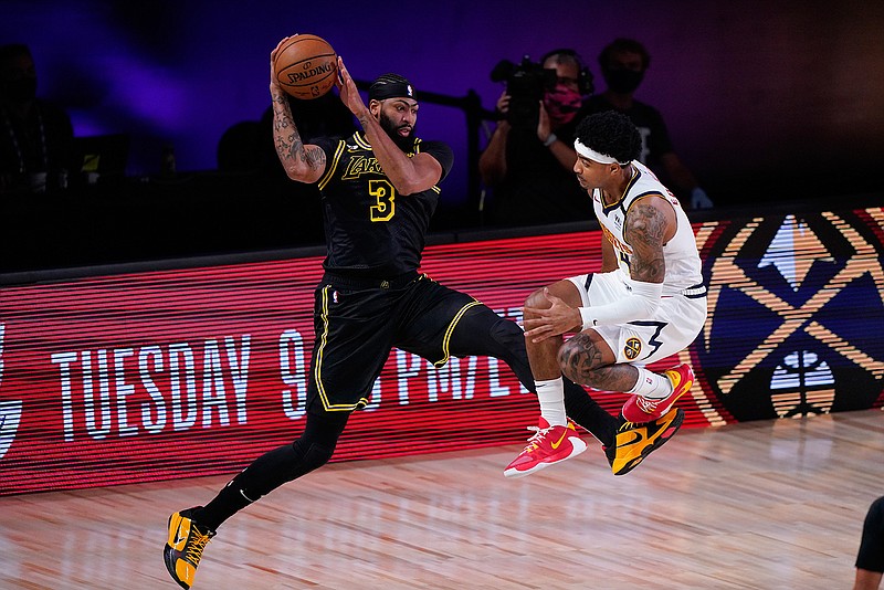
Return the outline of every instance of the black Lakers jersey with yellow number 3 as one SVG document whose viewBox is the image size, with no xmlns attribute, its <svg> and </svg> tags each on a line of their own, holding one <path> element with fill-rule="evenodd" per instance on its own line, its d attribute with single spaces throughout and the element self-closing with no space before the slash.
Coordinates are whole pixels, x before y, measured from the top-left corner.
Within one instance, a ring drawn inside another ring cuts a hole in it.
<svg viewBox="0 0 884 590">
<path fill-rule="evenodd" d="M 318 138 L 313 143 L 326 154 L 326 170 L 318 182 L 327 249 L 323 266 L 366 277 L 417 271 L 439 202 L 439 186 L 399 194 L 361 131 L 347 139 Z M 454 160 L 451 148 L 442 141 L 415 138 L 408 156 L 420 152 L 435 158 L 445 178 Z"/>
</svg>

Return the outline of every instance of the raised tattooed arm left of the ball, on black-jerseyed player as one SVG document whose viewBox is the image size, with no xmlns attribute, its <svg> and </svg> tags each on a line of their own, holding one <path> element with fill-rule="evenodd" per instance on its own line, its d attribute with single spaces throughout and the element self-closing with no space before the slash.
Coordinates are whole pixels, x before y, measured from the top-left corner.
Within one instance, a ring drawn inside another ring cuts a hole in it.
<svg viewBox="0 0 884 590">
<path fill-rule="evenodd" d="M 273 144 L 276 155 L 292 180 L 316 182 L 325 171 L 325 151 L 319 146 L 304 145 L 292 117 L 288 98 L 276 82 L 273 62 L 276 52 L 290 38 L 283 39 L 270 55 L 270 96 L 273 101 Z"/>
</svg>

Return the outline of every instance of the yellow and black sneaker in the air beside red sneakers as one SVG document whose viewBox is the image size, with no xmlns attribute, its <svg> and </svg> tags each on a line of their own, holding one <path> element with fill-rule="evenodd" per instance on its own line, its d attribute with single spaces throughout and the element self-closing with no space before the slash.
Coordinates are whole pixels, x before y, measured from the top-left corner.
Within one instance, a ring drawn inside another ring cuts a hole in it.
<svg viewBox="0 0 884 590">
<path fill-rule="evenodd" d="M 653 422 L 635 424 L 622 415 L 622 424 L 617 430 L 613 446 L 604 447 L 604 456 L 614 475 L 625 475 L 645 460 L 648 455 L 663 446 L 684 422 L 684 410 L 674 408 Z"/>
</svg>

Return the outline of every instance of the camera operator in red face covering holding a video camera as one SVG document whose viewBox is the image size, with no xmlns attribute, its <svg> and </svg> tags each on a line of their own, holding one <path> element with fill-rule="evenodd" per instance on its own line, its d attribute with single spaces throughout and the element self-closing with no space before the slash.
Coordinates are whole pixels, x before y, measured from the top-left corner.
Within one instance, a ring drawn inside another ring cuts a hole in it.
<svg viewBox="0 0 884 590">
<path fill-rule="evenodd" d="M 501 120 L 478 160 L 492 189 L 490 222 L 537 225 L 592 219 L 592 203 L 573 173 L 573 131 L 592 74 L 572 50 L 555 50 L 539 64 L 501 62 L 506 76 L 497 101 Z M 508 75 L 506 75 L 508 74 Z"/>
</svg>

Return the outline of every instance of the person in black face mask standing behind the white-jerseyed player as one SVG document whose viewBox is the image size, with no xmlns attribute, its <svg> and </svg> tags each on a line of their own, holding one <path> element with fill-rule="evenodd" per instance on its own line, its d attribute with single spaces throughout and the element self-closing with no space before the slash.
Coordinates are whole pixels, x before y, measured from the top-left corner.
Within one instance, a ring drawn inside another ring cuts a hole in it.
<svg viewBox="0 0 884 590">
<path fill-rule="evenodd" d="M 708 209 L 713 201 L 675 154 L 663 116 L 651 105 L 633 98 L 650 64 L 651 55 L 635 40 L 620 38 L 608 44 L 599 54 L 607 88 L 587 102 L 586 114 L 619 110 L 627 115 L 642 134 L 639 161 L 663 173 L 664 181 L 671 182 L 692 209 Z"/>
</svg>

